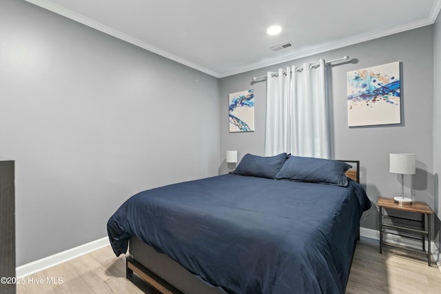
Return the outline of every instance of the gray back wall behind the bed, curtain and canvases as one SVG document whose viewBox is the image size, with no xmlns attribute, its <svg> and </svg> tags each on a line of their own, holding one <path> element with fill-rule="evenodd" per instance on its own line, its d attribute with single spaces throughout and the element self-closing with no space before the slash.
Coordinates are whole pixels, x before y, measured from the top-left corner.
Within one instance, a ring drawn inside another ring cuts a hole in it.
<svg viewBox="0 0 441 294">
<path fill-rule="evenodd" d="M 378 196 L 398 196 L 398 175 L 389 173 L 389 153 L 417 154 L 417 174 L 404 179 L 407 193 L 434 206 L 433 191 L 433 26 L 402 32 L 380 39 L 350 45 L 316 56 L 229 76 L 220 80 L 220 173 L 231 170 L 225 164 L 225 150 L 235 149 L 239 158 L 247 153 L 263 155 L 265 140 L 266 82 L 250 83 L 253 76 L 265 76 L 278 67 L 301 66 L 318 59 L 338 59 L 349 55 L 351 62 L 331 67 L 331 112 L 334 132 L 334 158 L 360 160 L 361 182 L 376 204 Z M 380 127 L 347 127 L 346 73 L 363 67 L 400 61 L 402 63 L 402 124 Z M 228 132 L 228 94 L 255 91 L 256 131 Z M 412 189 L 412 191 L 410 191 Z M 377 213 L 365 213 L 362 226 L 378 229 Z"/>
</svg>

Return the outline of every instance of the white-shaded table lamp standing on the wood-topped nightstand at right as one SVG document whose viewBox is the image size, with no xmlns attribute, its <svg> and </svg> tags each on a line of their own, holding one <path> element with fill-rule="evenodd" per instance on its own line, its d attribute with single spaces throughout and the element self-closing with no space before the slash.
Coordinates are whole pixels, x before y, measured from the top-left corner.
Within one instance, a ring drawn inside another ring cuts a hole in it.
<svg viewBox="0 0 441 294">
<path fill-rule="evenodd" d="M 404 175 L 413 175 L 416 172 L 415 154 L 389 154 L 389 172 L 401 174 L 401 197 L 394 197 L 398 204 L 412 204 L 412 199 L 404 197 Z"/>
</svg>

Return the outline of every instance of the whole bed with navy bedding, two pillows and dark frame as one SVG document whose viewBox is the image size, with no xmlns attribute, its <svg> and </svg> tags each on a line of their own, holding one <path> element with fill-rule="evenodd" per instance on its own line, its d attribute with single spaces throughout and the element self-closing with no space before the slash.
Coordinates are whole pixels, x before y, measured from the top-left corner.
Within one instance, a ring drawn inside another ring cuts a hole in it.
<svg viewBox="0 0 441 294">
<path fill-rule="evenodd" d="M 110 244 L 130 243 L 127 278 L 161 293 L 344 293 L 371 206 L 355 163 L 247 154 L 233 173 L 132 196 Z"/>
</svg>

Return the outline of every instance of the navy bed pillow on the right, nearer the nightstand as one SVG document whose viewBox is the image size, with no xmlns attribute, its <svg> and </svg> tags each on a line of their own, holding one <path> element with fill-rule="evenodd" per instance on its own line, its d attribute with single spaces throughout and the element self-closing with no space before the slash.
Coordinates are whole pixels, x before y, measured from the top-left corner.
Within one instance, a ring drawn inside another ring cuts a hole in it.
<svg viewBox="0 0 441 294">
<path fill-rule="evenodd" d="M 345 172 L 351 167 L 346 162 L 336 160 L 289 156 L 274 178 L 346 187 L 348 181 Z"/>
</svg>

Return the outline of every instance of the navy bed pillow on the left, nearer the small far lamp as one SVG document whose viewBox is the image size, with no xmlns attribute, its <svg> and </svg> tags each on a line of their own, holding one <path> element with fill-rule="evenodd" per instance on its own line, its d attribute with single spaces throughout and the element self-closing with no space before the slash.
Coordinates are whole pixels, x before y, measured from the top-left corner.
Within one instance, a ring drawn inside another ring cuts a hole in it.
<svg viewBox="0 0 441 294">
<path fill-rule="evenodd" d="M 256 176 L 260 178 L 274 178 L 283 163 L 287 159 L 286 153 L 276 156 L 256 156 L 245 154 L 239 165 L 232 171 L 232 174 L 240 176 Z"/>
</svg>

